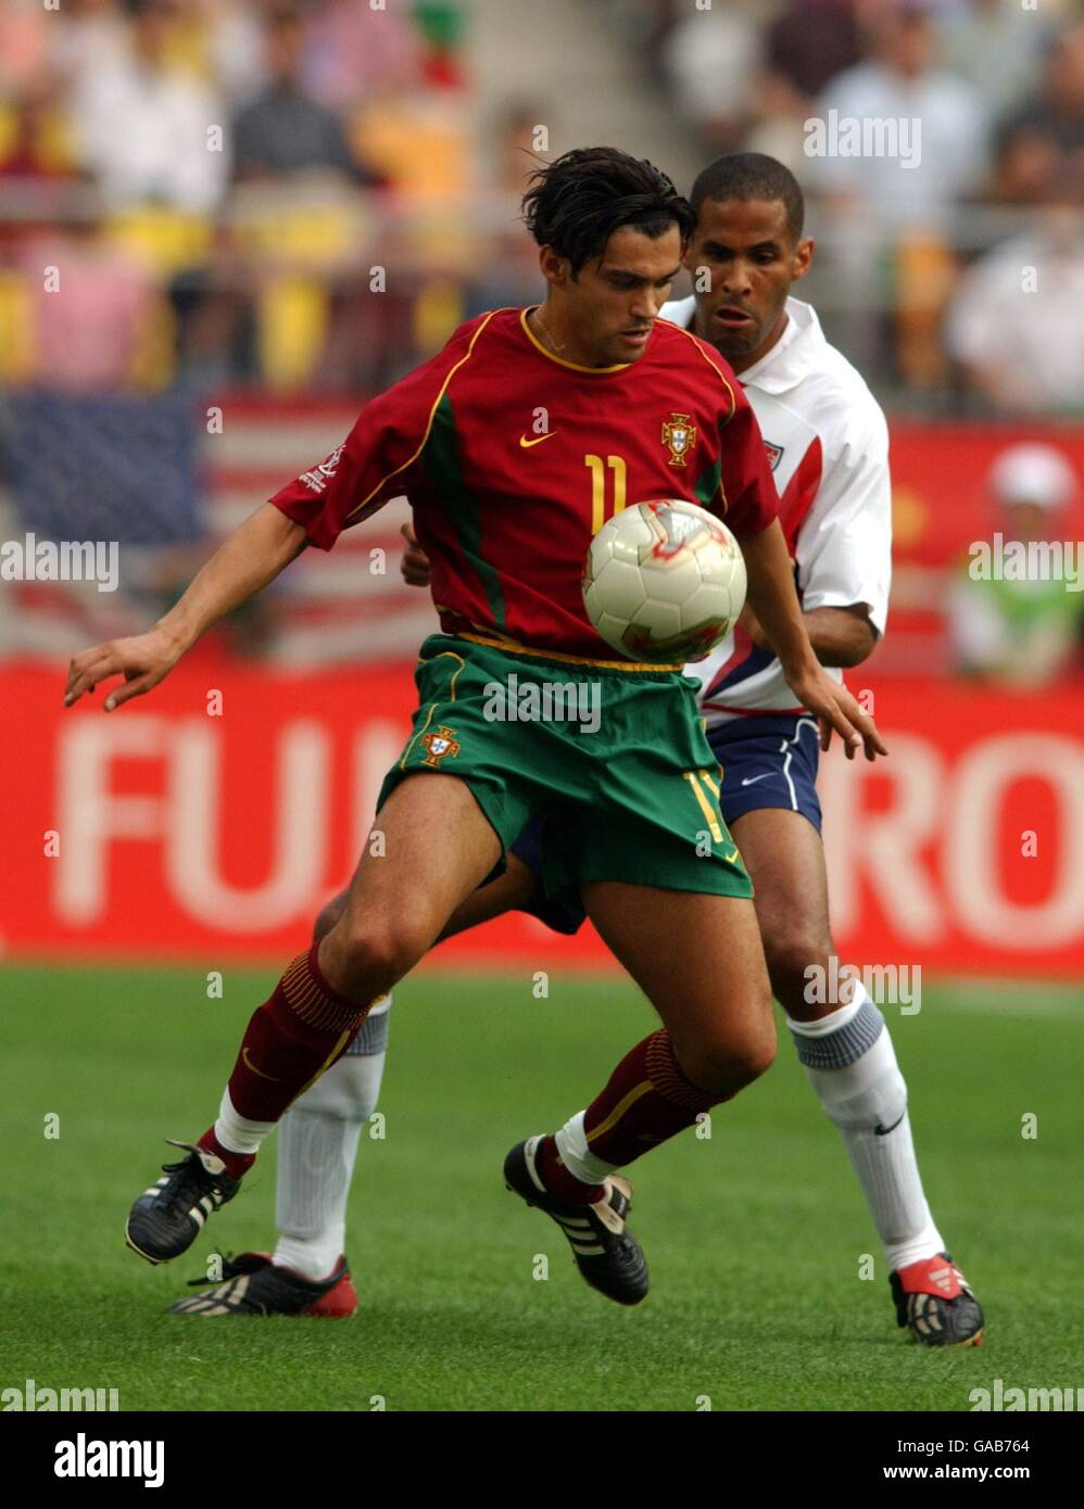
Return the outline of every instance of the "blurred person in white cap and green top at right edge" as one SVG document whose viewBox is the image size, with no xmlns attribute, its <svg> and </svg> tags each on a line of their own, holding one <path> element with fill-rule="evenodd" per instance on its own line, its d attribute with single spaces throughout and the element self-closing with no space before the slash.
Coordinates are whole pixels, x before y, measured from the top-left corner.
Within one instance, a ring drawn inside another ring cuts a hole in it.
<svg viewBox="0 0 1084 1509">
<path fill-rule="evenodd" d="M 1013 445 L 986 483 L 995 531 L 1009 542 L 1064 540 L 1066 512 L 1078 490 L 1072 466 L 1052 445 Z M 990 560 L 998 560 L 990 542 Z M 1004 554 L 1001 557 L 1005 560 Z M 1040 687 L 1072 664 L 1079 644 L 1084 593 L 1064 578 L 998 579 L 981 557 L 953 584 L 950 644 L 956 668 L 983 681 Z M 1012 573 L 1016 575 L 1015 572 Z"/>
</svg>

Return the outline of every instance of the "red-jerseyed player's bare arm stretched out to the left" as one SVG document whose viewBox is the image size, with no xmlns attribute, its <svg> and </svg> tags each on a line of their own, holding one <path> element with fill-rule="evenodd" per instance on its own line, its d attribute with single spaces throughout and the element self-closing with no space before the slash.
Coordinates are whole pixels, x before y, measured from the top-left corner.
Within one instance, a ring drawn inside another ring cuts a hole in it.
<svg viewBox="0 0 1084 1509">
<path fill-rule="evenodd" d="M 146 634 L 82 650 L 68 667 L 65 708 L 100 681 L 124 676 L 106 697 L 106 712 L 142 697 L 169 675 L 204 629 L 273 581 L 305 548 L 305 530 L 264 502 L 217 548 L 184 596 Z"/>
</svg>

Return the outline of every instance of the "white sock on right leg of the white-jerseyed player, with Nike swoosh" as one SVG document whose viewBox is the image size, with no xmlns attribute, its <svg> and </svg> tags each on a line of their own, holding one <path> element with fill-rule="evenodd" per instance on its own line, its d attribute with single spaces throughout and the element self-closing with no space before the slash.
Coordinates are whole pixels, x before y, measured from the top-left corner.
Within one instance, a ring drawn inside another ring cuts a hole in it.
<svg viewBox="0 0 1084 1509">
<path fill-rule="evenodd" d="M 850 1005 L 820 1022 L 788 1017 L 787 1025 L 809 1083 L 839 1127 L 889 1269 L 944 1251 L 922 1194 L 907 1086 L 888 1025 L 864 987 L 856 984 Z"/>
</svg>

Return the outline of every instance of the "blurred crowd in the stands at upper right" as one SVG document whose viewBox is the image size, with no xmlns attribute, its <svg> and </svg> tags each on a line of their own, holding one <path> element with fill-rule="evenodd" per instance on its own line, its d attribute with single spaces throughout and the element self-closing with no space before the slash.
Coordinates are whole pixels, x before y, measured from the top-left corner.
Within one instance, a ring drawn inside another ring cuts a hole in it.
<svg viewBox="0 0 1084 1509">
<path fill-rule="evenodd" d="M 658 0 L 654 27 L 704 154 L 768 152 L 809 190 L 808 287 L 864 370 L 935 412 L 1084 410 L 1078 0 Z M 815 155 L 811 121 L 919 122 L 916 160 Z"/>
</svg>

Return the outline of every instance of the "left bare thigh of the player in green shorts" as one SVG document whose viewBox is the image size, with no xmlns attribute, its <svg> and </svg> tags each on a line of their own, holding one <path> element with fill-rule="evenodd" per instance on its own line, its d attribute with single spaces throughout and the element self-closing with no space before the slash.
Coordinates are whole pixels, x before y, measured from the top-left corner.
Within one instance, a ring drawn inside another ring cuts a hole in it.
<svg viewBox="0 0 1084 1509">
<path fill-rule="evenodd" d="M 497 865 L 501 844 L 456 776 L 408 776 L 376 815 L 343 913 L 329 937 L 374 930 L 412 940 L 424 952 L 456 907 Z"/>
</svg>

